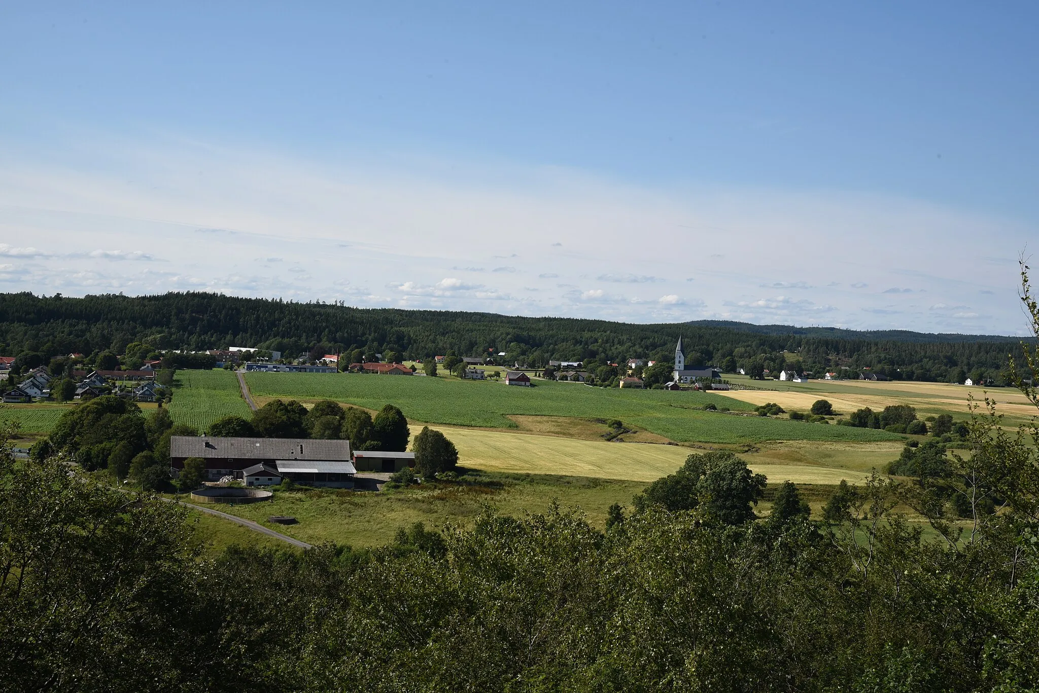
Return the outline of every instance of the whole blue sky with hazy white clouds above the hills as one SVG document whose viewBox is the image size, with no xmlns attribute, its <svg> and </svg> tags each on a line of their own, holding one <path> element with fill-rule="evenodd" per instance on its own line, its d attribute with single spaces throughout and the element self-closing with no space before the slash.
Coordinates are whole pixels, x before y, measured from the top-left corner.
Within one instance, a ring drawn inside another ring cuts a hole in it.
<svg viewBox="0 0 1039 693">
<path fill-rule="evenodd" d="M 1025 332 L 1036 3 L 520 4 L 0 4 L 0 291 Z"/>
</svg>

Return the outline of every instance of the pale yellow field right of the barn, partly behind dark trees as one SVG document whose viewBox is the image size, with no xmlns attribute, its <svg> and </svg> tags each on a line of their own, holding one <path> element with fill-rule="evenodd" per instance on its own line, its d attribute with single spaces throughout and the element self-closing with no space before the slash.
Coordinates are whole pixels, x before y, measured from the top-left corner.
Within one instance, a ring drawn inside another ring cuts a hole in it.
<svg viewBox="0 0 1039 693">
<path fill-rule="evenodd" d="M 673 445 L 606 443 L 448 426 L 431 428 L 438 429 L 455 444 L 462 467 L 491 472 L 654 481 L 682 467 L 691 453 L 699 452 Z M 412 435 L 419 430 L 412 426 Z M 887 462 L 898 457 L 898 452 L 893 456 L 885 449 L 879 455 Z M 807 456 L 790 461 L 765 451 L 742 456 L 755 473 L 768 476 L 771 482 L 789 479 L 795 483 L 835 484 L 847 479 L 849 483 L 862 483 L 868 476 L 854 469 L 823 465 Z"/>
</svg>

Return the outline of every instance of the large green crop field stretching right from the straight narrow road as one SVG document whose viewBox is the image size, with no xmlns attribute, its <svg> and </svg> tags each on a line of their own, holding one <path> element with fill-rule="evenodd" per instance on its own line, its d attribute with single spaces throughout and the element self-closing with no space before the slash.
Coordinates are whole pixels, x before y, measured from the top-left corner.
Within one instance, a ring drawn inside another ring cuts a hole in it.
<svg viewBox="0 0 1039 693">
<path fill-rule="evenodd" d="M 535 388 L 498 382 L 406 376 L 322 373 L 249 373 L 254 396 L 301 401 L 332 399 L 379 409 L 396 404 L 412 421 L 510 429 L 510 415 L 620 419 L 677 442 L 738 444 L 760 441 L 886 441 L 890 433 L 824 424 L 806 424 L 721 411 L 703 411 L 708 402 L 750 411 L 752 404 L 717 394 L 589 388 L 572 382 L 537 381 Z"/>
</svg>

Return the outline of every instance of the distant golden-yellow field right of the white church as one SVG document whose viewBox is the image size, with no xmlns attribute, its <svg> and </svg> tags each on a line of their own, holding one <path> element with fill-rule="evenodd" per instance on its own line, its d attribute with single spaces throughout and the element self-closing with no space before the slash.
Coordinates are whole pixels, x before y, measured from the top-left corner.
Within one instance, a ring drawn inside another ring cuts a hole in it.
<svg viewBox="0 0 1039 693">
<path fill-rule="evenodd" d="M 749 378 L 732 377 L 734 382 L 765 388 L 765 390 L 719 391 L 723 397 L 731 397 L 751 404 L 775 402 L 787 410 L 807 411 L 818 399 L 829 400 L 835 411 L 843 415 L 868 406 L 875 411 L 893 404 L 909 404 L 923 416 L 952 414 L 957 419 L 968 416 L 967 396 L 973 395 L 978 402 L 984 402 L 983 388 L 967 388 L 944 382 L 868 380 L 811 380 L 806 383 L 787 383 L 776 380 L 754 381 Z M 987 391 L 995 400 L 996 410 L 1008 418 L 1020 420 L 1036 414 L 1035 407 L 1020 392 L 1013 388 L 991 388 Z M 923 418 L 922 416 L 922 418 Z"/>
</svg>

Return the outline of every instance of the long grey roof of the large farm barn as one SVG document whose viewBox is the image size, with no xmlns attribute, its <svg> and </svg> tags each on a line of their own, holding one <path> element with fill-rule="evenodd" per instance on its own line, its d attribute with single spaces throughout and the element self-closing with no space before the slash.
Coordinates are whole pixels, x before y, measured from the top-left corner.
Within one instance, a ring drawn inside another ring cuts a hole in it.
<svg viewBox="0 0 1039 693">
<path fill-rule="evenodd" d="M 310 438 L 238 438 L 174 435 L 170 457 L 235 457 L 239 459 L 350 459 L 349 441 Z"/>
</svg>

